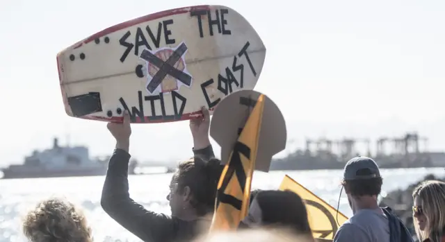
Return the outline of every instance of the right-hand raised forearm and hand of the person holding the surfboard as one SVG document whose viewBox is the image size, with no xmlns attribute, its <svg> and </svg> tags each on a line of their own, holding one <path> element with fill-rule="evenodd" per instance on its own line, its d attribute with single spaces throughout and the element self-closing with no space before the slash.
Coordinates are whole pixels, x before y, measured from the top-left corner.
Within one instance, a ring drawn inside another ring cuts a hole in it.
<svg viewBox="0 0 445 242">
<path fill-rule="evenodd" d="M 202 116 L 190 120 L 190 130 L 193 137 L 193 153 L 203 159 L 215 157 L 209 139 L 210 114 L 207 108 L 202 107 Z"/>
</svg>

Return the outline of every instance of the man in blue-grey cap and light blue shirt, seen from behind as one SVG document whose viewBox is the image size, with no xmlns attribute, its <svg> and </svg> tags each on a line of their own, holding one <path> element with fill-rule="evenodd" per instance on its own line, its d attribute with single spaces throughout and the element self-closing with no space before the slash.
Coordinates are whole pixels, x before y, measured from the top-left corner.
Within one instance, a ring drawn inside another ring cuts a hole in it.
<svg viewBox="0 0 445 242">
<path fill-rule="evenodd" d="M 341 184 L 353 216 L 339 227 L 334 242 L 413 242 L 410 232 L 391 209 L 378 206 L 382 182 L 373 159 L 359 156 L 346 163 Z"/>
</svg>

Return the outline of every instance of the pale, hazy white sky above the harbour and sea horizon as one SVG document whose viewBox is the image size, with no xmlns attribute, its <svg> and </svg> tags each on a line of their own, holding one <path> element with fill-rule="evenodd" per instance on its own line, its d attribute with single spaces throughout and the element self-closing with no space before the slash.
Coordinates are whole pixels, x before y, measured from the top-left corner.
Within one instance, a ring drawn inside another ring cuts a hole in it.
<svg viewBox="0 0 445 242">
<path fill-rule="evenodd" d="M 53 137 L 110 154 L 106 123 L 65 114 L 56 54 L 122 21 L 201 4 L 236 10 L 263 40 L 255 90 L 284 114 L 289 144 L 278 156 L 307 137 L 374 141 L 408 131 L 445 150 L 445 1 L 2 0 L 0 166 L 49 148 Z M 132 128 L 130 153 L 141 162 L 192 154 L 188 121 Z"/>
</svg>

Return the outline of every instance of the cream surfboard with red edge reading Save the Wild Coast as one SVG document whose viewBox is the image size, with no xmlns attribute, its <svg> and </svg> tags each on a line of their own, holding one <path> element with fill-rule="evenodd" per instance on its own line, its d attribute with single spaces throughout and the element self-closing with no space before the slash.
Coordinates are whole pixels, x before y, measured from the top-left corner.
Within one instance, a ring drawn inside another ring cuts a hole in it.
<svg viewBox="0 0 445 242">
<path fill-rule="evenodd" d="M 191 6 L 111 26 L 57 55 L 69 116 L 163 123 L 211 114 L 220 101 L 254 89 L 266 48 L 235 10 Z"/>
</svg>

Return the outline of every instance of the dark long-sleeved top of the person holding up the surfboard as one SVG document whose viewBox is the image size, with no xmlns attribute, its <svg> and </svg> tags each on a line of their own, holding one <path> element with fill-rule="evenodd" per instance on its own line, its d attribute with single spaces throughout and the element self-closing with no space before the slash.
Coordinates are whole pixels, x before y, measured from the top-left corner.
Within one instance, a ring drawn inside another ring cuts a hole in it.
<svg viewBox="0 0 445 242">
<path fill-rule="evenodd" d="M 193 153 L 201 157 L 214 157 L 211 146 L 193 150 Z M 147 211 L 132 200 L 128 186 L 129 159 L 129 153 L 121 149 L 115 149 L 110 158 L 102 190 L 101 205 L 104 211 L 145 242 L 191 241 L 202 232 L 198 227 L 202 229 L 208 221 L 182 221 L 174 216 Z"/>
</svg>

